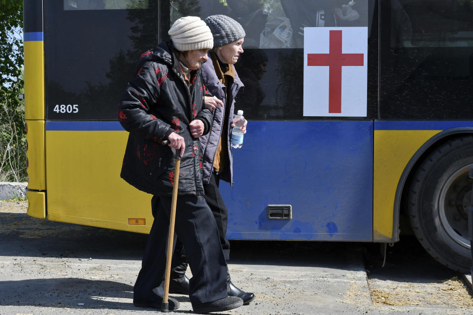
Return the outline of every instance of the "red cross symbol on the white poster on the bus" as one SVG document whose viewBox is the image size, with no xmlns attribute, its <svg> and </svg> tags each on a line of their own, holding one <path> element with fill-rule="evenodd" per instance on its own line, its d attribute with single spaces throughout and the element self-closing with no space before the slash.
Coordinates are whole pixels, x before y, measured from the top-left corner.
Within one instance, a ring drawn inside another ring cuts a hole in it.
<svg viewBox="0 0 473 315">
<path fill-rule="evenodd" d="M 341 113 L 341 66 L 363 65 L 363 54 L 341 53 L 341 31 L 330 31 L 328 54 L 307 54 L 307 65 L 329 66 L 329 113 Z"/>
</svg>

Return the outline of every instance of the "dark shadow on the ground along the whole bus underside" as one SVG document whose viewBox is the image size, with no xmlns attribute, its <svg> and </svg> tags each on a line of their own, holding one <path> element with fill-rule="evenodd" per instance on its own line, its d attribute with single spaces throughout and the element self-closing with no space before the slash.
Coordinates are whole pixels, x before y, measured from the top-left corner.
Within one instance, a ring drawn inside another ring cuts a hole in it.
<svg viewBox="0 0 473 315">
<path fill-rule="evenodd" d="M 34 219 L 25 213 L 0 213 L 0 247 L 4 256 L 141 260 L 147 235 Z M 348 242 L 231 241 L 230 263 L 366 267 L 368 278 L 435 282 L 458 273 L 440 265 L 413 236 L 387 248 L 384 267 L 380 245 Z M 360 264 L 360 256 L 365 266 Z"/>
</svg>

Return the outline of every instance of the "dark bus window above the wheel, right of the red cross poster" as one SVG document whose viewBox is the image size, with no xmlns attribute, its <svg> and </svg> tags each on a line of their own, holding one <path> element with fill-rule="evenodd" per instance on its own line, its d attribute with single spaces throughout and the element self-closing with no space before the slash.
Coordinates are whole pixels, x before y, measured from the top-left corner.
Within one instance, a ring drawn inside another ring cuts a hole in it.
<svg viewBox="0 0 473 315">
<path fill-rule="evenodd" d="M 381 119 L 471 119 L 473 4 L 380 1 Z M 426 117 L 428 113 L 428 117 Z"/>
</svg>

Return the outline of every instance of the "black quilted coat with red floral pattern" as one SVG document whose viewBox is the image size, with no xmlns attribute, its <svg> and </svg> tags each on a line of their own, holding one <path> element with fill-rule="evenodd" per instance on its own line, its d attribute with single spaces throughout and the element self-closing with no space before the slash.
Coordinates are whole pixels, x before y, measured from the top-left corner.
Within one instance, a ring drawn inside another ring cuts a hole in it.
<svg viewBox="0 0 473 315">
<path fill-rule="evenodd" d="M 161 142 L 171 132 L 184 137 L 186 148 L 179 171 L 179 195 L 203 195 L 202 157 L 199 139 L 189 123 L 202 120 L 204 134 L 212 114 L 203 107 L 206 91 L 201 70 L 190 75 L 188 87 L 171 42 L 163 42 L 141 55 L 136 77 L 128 84 L 118 109 L 118 119 L 129 131 L 121 177 L 142 191 L 171 195 L 174 155 Z"/>
</svg>

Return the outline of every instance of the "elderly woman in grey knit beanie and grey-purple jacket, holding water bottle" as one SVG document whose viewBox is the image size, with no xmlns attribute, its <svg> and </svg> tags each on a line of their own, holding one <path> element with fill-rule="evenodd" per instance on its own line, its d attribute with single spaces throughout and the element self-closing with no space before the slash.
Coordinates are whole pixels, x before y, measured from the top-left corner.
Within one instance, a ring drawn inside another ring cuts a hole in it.
<svg viewBox="0 0 473 315">
<path fill-rule="evenodd" d="M 226 15 L 211 15 L 205 19 L 213 35 L 213 49 L 202 66 L 203 81 L 213 97 L 205 96 L 205 106 L 213 110 L 214 119 L 210 131 L 201 137 L 203 144 L 203 188 L 205 201 L 217 222 L 220 244 L 225 259 L 230 257 L 230 242 L 226 237 L 228 211 L 219 191 L 220 179 L 233 185 L 233 155 L 230 147 L 235 97 L 243 83 L 236 73 L 234 64 L 243 53 L 245 31 L 234 19 Z M 242 127 L 246 132 L 246 122 Z M 189 280 L 185 276 L 186 256 L 178 242 L 172 258 L 170 291 L 188 294 Z M 240 297 L 244 305 L 254 300 L 252 292 L 239 289 L 227 273 L 228 294 Z"/>
</svg>

